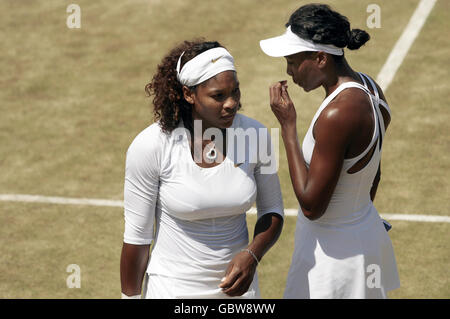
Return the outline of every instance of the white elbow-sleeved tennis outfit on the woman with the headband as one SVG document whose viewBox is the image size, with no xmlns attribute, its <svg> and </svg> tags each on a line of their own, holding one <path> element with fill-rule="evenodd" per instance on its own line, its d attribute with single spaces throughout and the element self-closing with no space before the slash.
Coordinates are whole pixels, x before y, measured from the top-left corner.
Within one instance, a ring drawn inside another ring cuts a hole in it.
<svg viewBox="0 0 450 319">
<path fill-rule="evenodd" d="M 231 128 L 267 134 L 262 124 L 240 114 Z M 248 245 L 245 212 L 256 201 L 258 218 L 271 212 L 283 216 L 278 175 L 276 170 L 264 173 L 267 163 L 261 161 L 257 138 L 246 144 L 244 154 L 236 152 L 238 143 L 234 152 L 228 143 L 227 157 L 211 168 L 194 162 L 184 129 L 165 134 L 154 123 L 131 143 L 124 242 L 146 245 L 154 240 L 145 298 L 228 297 L 218 285 L 231 259 Z M 242 297 L 260 297 L 256 274 Z"/>
</svg>

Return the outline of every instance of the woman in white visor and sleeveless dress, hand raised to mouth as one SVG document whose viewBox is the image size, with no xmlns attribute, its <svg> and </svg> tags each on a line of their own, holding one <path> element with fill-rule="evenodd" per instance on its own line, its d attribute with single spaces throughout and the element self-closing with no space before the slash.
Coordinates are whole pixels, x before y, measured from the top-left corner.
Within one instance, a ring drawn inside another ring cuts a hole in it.
<svg viewBox="0 0 450 319">
<path fill-rule="evenodd" d="M 262 40 L 262 50 L 284 57 L 288 75 L 306 92 L 322 86 L 325 99 L 300 146 L 287 82 L 270 87 L 300 204 L 284 297 L 386 298 L 400 283 L 390 225 L 373 200 L 390 111 L 380 87 L 344 56 L 345 47 L 358 49 L 369 35 L 321 4 L 300 7 L 286 27 Z"/>
</svg>

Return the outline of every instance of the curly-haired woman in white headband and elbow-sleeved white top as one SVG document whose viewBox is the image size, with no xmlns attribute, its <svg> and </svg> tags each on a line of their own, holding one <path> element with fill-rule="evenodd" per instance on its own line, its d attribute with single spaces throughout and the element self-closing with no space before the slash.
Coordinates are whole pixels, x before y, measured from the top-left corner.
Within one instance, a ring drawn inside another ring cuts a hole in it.
<svg viewBox="0 0 450 319">
<path fill-rule="evenodd" d="M 281 232 L 283 202 L 277 172 L 249 156 L 260 141 L 230 146 L 239 139 L 231 129 L 264 131 L 236 113 L 233 57 L 217 42 L 185 41 L 146 92 L 157 121 L 127 152 L 122 297 L 259 298 L 256 266 Z M 245 212 L 255 202 L 249 243 Z"/>
</svg>

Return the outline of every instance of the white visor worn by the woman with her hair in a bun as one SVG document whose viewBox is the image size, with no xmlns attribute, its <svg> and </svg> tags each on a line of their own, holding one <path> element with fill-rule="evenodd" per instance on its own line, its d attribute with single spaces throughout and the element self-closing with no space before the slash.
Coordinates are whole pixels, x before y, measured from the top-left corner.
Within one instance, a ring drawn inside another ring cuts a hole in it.
<svg viewBox="0 0 450 319">
<path fill-rule="evenodd" d="M 265 54 L 273 57 L 288 56 L 303 51 L 323 51 L 334 55 L 343 55 L 344 50 L 332 44 L 318 44 L 300 38 L 288 26 L 286 32 L 278 37 L 259 41 Z"/>
</svg>

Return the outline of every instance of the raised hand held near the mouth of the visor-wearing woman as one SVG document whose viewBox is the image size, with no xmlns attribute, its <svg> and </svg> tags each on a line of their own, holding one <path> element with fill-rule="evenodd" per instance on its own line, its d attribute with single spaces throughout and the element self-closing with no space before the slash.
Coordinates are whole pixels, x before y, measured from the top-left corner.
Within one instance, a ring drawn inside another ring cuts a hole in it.
<svg viewBox="0 0 450 319">
<path fill-rule="evenodd" d="M 279 81 L 270 86 L 270 107 L 280 122 L 282 130 L 295 129 L 297 112 L 287 92 L 287 81 Z"/>
</svg>

